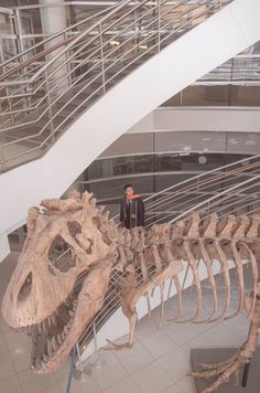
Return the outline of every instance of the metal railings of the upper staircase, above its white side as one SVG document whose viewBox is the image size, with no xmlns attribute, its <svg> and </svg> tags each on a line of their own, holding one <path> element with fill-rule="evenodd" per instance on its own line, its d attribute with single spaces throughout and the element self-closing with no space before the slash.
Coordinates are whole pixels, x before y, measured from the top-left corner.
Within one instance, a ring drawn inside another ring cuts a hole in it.
<svg viewBox="0 0 260 393">
<path fill-rule="evenodd" d="M 30 160 L 32 153 L 37 157 L 43 155 L 61 131 L 131 72 L 130 67 L 139 66 L 230 1 L 213 0 L 202 4 L 198 0 L 192 3 L 191 0 L 177 3 L 158 0 L 152 2 L 153 6 L 149 0 L 121 1 L 94 21 L 90 28 L 74 35 L 45 64 L 30 70 L 26 81 L 19 75 L 17 81 L 0 83 L 1 87 L 8 86 L 10 89 L 0 99 L 3 107 L 0 128 L 3 138 L 0 146 L 2 171 L 19 164 L 19 160 Z M 180 4 L 182 8 L 177 8 Z M 113 46 L 112 41 L 116 42 Z M 75 107 L 72 108 L 73 105 Z M 37 128 L 33 129 L 34 126 Z M 15 130 L 20 131 L 21 127 L 30 129 L 30 132 L 19 132 L 19 137 L 15 137 Z M 21 146 L 19 152 L 9 150 L 15 144 Z"/>
</svg>

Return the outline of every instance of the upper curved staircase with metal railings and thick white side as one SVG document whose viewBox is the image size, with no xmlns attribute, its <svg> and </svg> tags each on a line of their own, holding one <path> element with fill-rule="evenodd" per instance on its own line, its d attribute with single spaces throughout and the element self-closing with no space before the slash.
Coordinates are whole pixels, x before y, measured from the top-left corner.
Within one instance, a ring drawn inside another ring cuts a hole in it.
<svg viewBox="0 0 260 393">
<path fill-rule="evenodd" d="M 0 88 L 11 92 L 1 98 L 3 240 L 24 223 L 29 206 L 59 197 L 138 120 L 260 39 L 257 0 L 250 7 L 245 0 L 177 6 L 122 1 L 69 42 L 61 41 L 41 66 L 29 50 L 25 78 L 18 70 L 24 53 L 14 68 L 11 61 L 3 64 Z"/>
</svg>

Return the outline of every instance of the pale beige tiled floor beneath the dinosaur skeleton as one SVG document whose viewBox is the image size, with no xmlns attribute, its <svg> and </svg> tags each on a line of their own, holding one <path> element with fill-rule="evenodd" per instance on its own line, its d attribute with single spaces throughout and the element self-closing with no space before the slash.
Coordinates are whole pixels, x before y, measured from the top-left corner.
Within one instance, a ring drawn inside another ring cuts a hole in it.
<svg viewBox="0 0 260 393">
<path fill-rule="evenodd" d="M 0 265 L 0 298 L 15 264 L 15 254 Z M 205 286 L 204 315 L 208 316 L 209 290 Z M 224 291 L 219 290 L 223 299 Z M 236 306 L 236 294 L 232 293 Z M 195 311 L 195 293 L 184 293 L 183 315 Z M 174 316 L 175 300 L 165 305 L 166 319 Z M 216 325 L 176 325 L 165 322 L 158 330 L 159 310 L 140 320 L 137 342 L 131 350 L 100 351 L 106 361 L 101 369 L 93 369 L 85 382 L 73 380 L 72 393 L 194 393 L 189 371 L 191 348 L 237 347 L 247 336 L 245 315 Z M 62 393 L 66 392 L 69 361 L 53 374 L 35 375 L 29 369 L 30 339 L 14 333 L 0 319 L 0 392 Z"/>
</svg>

